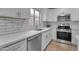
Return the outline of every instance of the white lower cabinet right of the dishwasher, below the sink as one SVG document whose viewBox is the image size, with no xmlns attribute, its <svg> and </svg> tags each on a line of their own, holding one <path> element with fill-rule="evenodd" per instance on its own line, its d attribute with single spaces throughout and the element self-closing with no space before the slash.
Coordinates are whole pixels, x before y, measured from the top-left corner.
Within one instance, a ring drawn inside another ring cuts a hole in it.
<svg viewBox="0 0 79 59">
<path fill-rule="evenodd" d="M 42 45 L 41 45 L 41 50 L 43 51 L 49 42 L 51 41 L 51 30 L 45 31 L 42 33 Z"/>
</svg>

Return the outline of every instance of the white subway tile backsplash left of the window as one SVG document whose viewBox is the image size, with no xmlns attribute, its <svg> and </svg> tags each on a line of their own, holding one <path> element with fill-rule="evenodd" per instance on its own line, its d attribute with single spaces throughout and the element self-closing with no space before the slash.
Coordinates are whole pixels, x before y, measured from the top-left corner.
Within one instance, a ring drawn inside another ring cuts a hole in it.
<svg viewBox="0 0 79 59">
<path fill-rule="evenodd" d="M 33 20 L 0 18 L 0 35 L 33 29 Z"/>
</svg>

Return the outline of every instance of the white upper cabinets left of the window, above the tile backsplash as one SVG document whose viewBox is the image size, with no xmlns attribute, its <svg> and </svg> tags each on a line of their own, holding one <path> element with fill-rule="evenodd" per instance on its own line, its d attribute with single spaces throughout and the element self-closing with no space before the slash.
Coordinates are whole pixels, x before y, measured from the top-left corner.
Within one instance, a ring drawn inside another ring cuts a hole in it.
<svg viewBox="0 0 79 59">
<path fill-rule="evenodd" d="M 0 8 L 0 16 L 29 18 L 29 8 Z"/>
</svg>

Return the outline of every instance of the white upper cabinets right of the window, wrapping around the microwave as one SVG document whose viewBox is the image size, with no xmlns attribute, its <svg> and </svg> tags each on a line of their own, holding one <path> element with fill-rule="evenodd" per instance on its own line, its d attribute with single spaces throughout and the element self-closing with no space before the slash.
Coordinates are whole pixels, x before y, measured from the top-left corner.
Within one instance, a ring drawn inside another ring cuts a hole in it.
<svg viewBox="0 0 79 59">
<path fill-rule="evenodd" d="M 43 8 L 41 11 L 41 19 L 43 21 L 57 21 L 57 16 L 65 13 L 71 15 L 71 21 L 79 21 L 79 8 Z"/>
</svg>

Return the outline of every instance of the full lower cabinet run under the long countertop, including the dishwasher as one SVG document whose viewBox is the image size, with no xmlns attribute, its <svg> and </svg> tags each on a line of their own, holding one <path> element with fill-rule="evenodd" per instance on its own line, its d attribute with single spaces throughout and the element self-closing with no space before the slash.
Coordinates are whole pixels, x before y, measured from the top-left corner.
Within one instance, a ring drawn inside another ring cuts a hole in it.
<svg viewBox="0 0 79 59">
<path fill-rule="evenodd" d="M 52 39 L 52 31 L 47 30 L 32 37 L 0 46 L 0 51 L 43 51 Z"/>
</svg>

